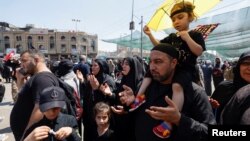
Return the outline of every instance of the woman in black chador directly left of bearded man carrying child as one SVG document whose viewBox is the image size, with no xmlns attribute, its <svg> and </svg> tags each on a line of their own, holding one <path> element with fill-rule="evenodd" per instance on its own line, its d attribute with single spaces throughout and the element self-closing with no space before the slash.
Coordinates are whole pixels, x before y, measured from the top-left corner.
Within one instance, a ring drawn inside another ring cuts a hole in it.
<svg viewBox="0 0 250 141">
<path fill-rule="evenodd" d="M 122 79 L 117 85 L 116 104 L 121 105 L 118 93 L 124 91 L 123 85 L 137 93 L 143 80 L 143 64 L 136 57 L 127 57 L 122 63 Z M 126 106 L 124 106 L 126 109 Z M 128 107 L 127 107 L 128 108 Z M 119 141 L 135 141 L 133 113 L 115 114 L 115 135 Z"/>
</svg>

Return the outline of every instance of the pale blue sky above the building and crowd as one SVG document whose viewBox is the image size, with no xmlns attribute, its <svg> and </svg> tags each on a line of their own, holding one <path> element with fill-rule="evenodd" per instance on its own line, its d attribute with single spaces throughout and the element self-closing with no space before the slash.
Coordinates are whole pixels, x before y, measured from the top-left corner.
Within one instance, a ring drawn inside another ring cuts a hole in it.
<svg viewBox="0 0 250 141">
<path fill-rule="evenodd" d="M 242 0 L 223 0 L 223 3 Z M 249 0 L 247 0 L 249 1 Z M 140 30 L 150 20 L 163 0 L 134 0 L 135 28 Z M 223 7 L 223 5 L 221 6 Z M 132 0 L 1 0 L 0 21 L 24 27 L 35 24 L 38 28 L 75 30 L 97 34 L 99 39 L 113 39 L 130 34 Z M 163 32 L 158 33 L 164 36 Z M 99 42 L 100 50 L 111 51 L 116 45 Z"/>
</svg>

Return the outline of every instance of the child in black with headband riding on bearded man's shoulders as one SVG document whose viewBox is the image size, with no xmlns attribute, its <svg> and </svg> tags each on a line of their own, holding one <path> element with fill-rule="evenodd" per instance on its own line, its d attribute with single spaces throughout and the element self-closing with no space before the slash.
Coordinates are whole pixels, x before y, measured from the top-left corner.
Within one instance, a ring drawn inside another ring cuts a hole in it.
<svg viewBox="0 0 250 141">
<path fill-rule="evenodd" d="M 196 18 L 193 10 L 195 6 L 190 2 L 176 3 L 171 9 L 170 18 L 172 19 L 173 27 L 178 31 L 171 33 L 168 37 L 161 41 L 156 40 L 151 34 L 147 26 L 144 27 L 144 32 L 147 34 L 154 44 L 169 43 L 174 45 L 179 50 L 178 69 L 174 76 L 172 84 L 173 96 L 172 100 L 181 111 L 184 103 L 184 88 L 189 83 L 197 82 L 196 78 L 196 59 L 202 54 L 205 48 L 205 41 L 201 33 L 197 31 L 189 31 L 189 24 Z M 145 102 L 144 93 L 147 86 L 151 83 L 150 73 L 146 74 L 141 88 L 137 94 L 134 103 L 131 105 L 130 111 L 135 110 Z M 160 138 L 168 138 L 171 134 L 172 124 L 162 122 L 153 129 L 153 132 Z"/>
</svg>

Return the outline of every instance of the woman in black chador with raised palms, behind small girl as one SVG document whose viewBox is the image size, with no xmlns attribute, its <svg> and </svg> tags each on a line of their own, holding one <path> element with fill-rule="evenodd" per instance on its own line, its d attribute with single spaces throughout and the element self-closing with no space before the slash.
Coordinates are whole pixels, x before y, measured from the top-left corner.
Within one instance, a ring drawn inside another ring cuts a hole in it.
<svg viewBox="0 0 250 141">
<path fill-rule="evenodd" d="M 84 123 L 84 140 L 92 141 L 95 137 L 96 124 L 93 117 L 93 108 L 97 102 L 105 102 L 112 105 L 116 89 L 114 79 L 108 75 L 109 67 L 106 60 L 95 59 L 92 62 L 91 75 L 89 75 L 86 90 L 83 94 L 83 123 Z M 106 88 L 109 91 L 106 91 Z M 111 122 L 112 126 L 112 122 Z M 111 127 L 112 128 L 112 127 Z"/>
</svg>

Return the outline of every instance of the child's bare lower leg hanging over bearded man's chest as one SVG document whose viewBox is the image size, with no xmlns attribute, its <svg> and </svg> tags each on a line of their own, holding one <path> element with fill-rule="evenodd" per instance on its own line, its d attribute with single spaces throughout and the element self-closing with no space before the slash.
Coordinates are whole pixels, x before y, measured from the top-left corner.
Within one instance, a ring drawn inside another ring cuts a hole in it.
<svg viewBox="0 0 250 141">
<path fill-rule="evenodd" d="M 172 100 L 177 105 L 179 111 L 181 111 L 183 103 L 184 103 L 184 91 L 183 91 L 183 88 L 179 83 L 173 83 L 172 84 L 172 89 L 173 89 Z"/>
</svg>

